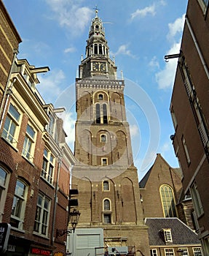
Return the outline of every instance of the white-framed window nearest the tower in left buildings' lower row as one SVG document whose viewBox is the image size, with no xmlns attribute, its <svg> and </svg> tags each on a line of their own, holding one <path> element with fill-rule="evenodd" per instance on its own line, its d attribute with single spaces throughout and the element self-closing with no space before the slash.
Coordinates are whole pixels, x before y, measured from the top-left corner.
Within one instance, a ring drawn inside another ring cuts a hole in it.
<svg viewBox="0 0 209 256">
<path fill-rule="evenodd" d="M 36 217 L 33 230 L 47 236 L 50 219 L 50 199 L 39 194 L 36 206 Z"/>
</svg>

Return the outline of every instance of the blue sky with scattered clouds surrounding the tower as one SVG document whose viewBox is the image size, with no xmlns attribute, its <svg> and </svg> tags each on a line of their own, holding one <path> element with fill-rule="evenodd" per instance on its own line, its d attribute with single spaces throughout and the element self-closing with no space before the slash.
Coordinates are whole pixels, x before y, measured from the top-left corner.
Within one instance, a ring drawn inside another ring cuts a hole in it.
<svg viewBox="0 0 209 256">
<path fill-rule="evenodd" d="M 143 177 L 157 153 L 178 167 L 170 135 L 170 97 L 179 53 L 187 0 L 4 0 L 23 42 L 18 58 L 36 67 L 50 67 L 37 86 L 47 103 L 66 107 L 63 114 L 73 151 L 74 82 L 94 8 L 103 20 L 111 59 L 125 78 L 135 166 Z M 66 97 L 68 95 L 69 97 Z"/>
</svg>

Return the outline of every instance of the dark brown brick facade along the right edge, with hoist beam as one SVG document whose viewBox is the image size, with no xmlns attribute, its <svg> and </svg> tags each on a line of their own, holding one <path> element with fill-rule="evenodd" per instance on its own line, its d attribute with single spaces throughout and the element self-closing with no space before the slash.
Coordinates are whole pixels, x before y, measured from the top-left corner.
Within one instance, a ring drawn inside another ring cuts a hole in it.
<svg viewBox="0 0 209 256">
<path fill-rule="evenodd" d="M 183 171 L 185 194 L 192 195 L 196 230 L 205 255 L 209 255 L 208 25 L 208 1 L 189 0 L 170 103 L 173 147 Z"/>
</svg>

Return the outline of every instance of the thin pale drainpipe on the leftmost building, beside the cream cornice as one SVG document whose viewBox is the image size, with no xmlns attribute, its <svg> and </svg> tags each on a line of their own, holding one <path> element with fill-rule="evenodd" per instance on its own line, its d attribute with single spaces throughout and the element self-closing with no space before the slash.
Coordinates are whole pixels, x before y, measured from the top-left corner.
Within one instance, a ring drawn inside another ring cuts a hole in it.
<svg viewBox="0 0 209 256">
<path fill-rule="evenodd" d="M 17 53 L 18 53 L 18 50 L 14 49 L 13 50 L 12 65 L 11 65 L 11 67 L 9 69 L 9 75 L 8 75 L 8 78 L 7 78 L 7 84 L 6 84 L 6 87 L 4 89 L 4 94 L 3 94 L 3 97 L 2 97 L 2 100 L 1 100 L 1 105 L 0 105 L 0 116 L 1 116 L 1 119 L 0 119 L 0 130 L 1 130 L 2 121 L 4 119 L 4 114 L 5 114 L 5 111 L 6 111 L 6 108 L 7 108 L 7 102 L 8 102 L 8 99 L 9 99 L 9 93 L 8 93 L 9 80 L 10 80 L 11 75 L 12 75 L 12 69 L 13 69 L 14 64 L 15 64 L 15 59 L 16 59 Z M 15 83 L 14 80 L 12 82 L 12 85 L 13 85 L 13 83 Z M 12 87 L 12 85 L 11 85 L 11 87 Z M 11 87 L 10 87 L 10 90 L 12 89 Z M 4 102 L 4 99 L 6 99 L 5 102 Z M 2 114 L 1 114 L 1 112 L 2 112 Z"/>
</svg>

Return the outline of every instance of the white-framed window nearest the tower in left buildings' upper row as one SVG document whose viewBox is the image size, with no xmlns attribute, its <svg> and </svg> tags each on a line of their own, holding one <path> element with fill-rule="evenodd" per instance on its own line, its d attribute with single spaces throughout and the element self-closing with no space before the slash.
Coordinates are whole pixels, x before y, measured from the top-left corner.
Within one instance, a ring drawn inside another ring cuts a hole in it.
<svg viewBox="0 0 209 256">
<path fill-rule="evenodd" d="M 44 148 L 44 157 L 42 164 L 42 177 L 52 184 L 55 168 L 55 157 L 50 151 Z"/>
</svg>

